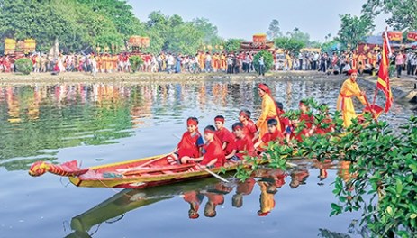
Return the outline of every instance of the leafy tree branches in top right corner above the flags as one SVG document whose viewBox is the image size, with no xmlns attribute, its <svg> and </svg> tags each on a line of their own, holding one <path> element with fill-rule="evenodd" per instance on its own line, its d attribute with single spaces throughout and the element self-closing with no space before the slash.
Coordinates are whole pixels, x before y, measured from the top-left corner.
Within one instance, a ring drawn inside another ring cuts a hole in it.
<svg viewBox="0 0 417 238">
<path fill-rule="evenodd" d="M 372 21 L 381 13 L 391 14 L 385 22 L 396 30 L 417 29 L 417 1 L 415 0 L 367 0 L 362 13 Z"/>
</svg>

